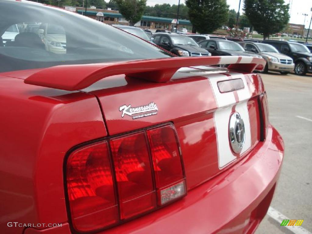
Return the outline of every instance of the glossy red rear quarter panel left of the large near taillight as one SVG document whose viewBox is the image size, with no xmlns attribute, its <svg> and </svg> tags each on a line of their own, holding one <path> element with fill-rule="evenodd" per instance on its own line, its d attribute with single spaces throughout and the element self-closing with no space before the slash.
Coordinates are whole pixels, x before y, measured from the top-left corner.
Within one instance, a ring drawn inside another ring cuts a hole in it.
<svg viewBox="0 0 312 234">
<path fill-rule="evenodd" d="M 0 75 L 0 230 L 7 222 L 67 221 L 63 162 L 77 144 L 107 135 L 93 95 L 34 85 Z M 41 227 L 43 228 L 43 227 Z"/>
</svg>

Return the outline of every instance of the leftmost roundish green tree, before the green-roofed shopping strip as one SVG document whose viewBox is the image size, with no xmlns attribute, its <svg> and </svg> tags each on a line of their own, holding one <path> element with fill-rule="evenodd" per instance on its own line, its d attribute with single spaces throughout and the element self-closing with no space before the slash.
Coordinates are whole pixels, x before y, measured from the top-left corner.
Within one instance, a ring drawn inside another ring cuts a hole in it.
<svg viewBox="0 0 312 234">
<path fill-rule="evenodd" d="M 138 22 L 145 10 L 146 0 L 116 0 L 120 13 L 130 25 Z"/>
</svg>

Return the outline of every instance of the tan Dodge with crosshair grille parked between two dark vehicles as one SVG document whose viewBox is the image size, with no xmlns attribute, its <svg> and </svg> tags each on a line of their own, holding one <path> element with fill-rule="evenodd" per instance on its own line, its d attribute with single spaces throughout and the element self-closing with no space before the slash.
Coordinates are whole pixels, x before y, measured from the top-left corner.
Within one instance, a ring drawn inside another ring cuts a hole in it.
<svg viewBox="0 0 312 234">
<path fill-rule="evenodd" d="M 294 71 L 295 64 L 292 58 L 281 54 L 274 46 L 263 43 L 238 42 L 246 51 L 260 55 L 266 60 L 264 72 L 278 71 L 283 75 Z"/>
</svg>

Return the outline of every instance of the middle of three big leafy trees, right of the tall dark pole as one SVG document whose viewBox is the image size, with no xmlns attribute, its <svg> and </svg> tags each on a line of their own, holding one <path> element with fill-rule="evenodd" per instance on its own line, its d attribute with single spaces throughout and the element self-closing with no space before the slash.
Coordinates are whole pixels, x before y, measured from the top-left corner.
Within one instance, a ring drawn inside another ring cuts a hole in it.
<svg viewBox="0 0 312 234">
<path fill-rule="evenodd" d="M 226 0 L 186 0 L 188 15 L 196 31 L 212 33 L 228 22 L 229 6 Z"/>
</svg>

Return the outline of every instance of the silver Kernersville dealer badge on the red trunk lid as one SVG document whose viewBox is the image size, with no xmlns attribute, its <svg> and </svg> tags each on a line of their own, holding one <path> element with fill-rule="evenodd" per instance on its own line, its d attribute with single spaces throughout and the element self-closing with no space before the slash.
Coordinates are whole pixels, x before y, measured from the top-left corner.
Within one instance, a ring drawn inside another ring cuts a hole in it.
<svg viewBox="0 0 312 234">
<path fill-rule="evenodd" d="M 132 116 L 132 119 L 139 119 L 151 115 L 156 115 L 158 112 L 157 105 L 154 102 L 148 105 L 131 107 L 131 105 L 122 105 L 119 107 L 119 111 L 122 111 L 121 117 L 124 115 Z"/>
</svg>

